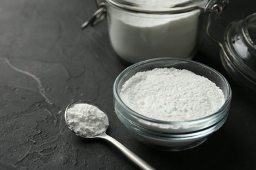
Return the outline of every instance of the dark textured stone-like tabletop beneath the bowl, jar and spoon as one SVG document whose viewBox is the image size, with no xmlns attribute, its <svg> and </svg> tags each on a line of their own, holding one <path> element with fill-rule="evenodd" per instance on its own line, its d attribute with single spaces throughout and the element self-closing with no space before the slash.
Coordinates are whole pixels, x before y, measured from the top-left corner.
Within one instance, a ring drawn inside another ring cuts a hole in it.
<svg viewBox="0 0 256 170">
<path fill-rule="evenodd" d="M 156 169 L 256 169 L 256 99 L 226 74 L 219 47 L 204 38 L 194 60 L 232 87 L 228 120 L 202 145 L 162 152 L 139 143 L 117 120 L 112 86 L 127 67 L 114 54 L 107 22 L 81 31 L 93 0 L 0 0 L 0 169 L 137 169 L 104 141 L 76 137 L 64 110 L 90 99 L 106 110 L 108 134 Z M 255 0 L 231 0 L 226 22 L 256 12 Z M 221 39 L 224 26 L 213 23 Z"/>
</svg>

